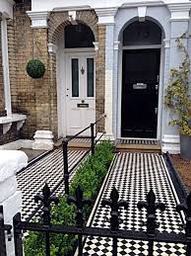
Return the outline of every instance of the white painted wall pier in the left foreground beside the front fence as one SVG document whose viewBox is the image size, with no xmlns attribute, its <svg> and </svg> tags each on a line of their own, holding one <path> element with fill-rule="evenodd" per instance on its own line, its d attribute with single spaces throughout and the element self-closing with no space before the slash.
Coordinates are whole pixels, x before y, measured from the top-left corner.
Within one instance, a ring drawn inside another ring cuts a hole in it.
<svg viewBox="0 0 191 256">
<path fill-rule="evenodd" d="M 28 165 L 28 156 L 19 150 L 0 150 L 0 205 L 3 206 L 4 223 L 13 226 L 13 217 L 22 210 L 22 192 L 18 189 L 16 173 Z M 13 228 L 11 230 L 12 237 Z M 8 256 L 15 256 L 14 238 L 8 241 Z M 0 252 L 1 254 L 1 252 Z"/>
</svg>

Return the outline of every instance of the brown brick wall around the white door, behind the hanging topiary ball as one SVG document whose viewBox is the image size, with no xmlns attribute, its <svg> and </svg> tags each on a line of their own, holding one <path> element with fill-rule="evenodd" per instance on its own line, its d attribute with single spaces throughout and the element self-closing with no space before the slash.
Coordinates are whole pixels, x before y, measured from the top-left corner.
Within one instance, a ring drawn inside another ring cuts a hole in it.
<svg viewBox="0 0 191 256">
<path fill-rule="evenodd" d="M 47 43 L 57 43 L 60 32 L 68 22 L 68 13 L 51 13 L 47 29 L 31 28 L 31 19 L 26 11 L 31 6 L 16 5 L 14 21 L 8 24 L 10 82 L 13 112 L 25 113 L 27 122 L 22 129 L 23 138 L 32 138 L 36 129 L 51 129 L 57 138 L 57 89 L 56 57 L 47 52 Z M 105 28 L 97 26 L 94 11 L 77 12 L 77 19 L 93 30 L 99 50 L 96 52 L 96 118 L 104 113 L 104 62 Z M 39 58 L 45 64 L 41 79 L 32 79 L 26 72 L 26 65 Z M 102 122 L 96 128 L 102 130 Z"/>
</svg>

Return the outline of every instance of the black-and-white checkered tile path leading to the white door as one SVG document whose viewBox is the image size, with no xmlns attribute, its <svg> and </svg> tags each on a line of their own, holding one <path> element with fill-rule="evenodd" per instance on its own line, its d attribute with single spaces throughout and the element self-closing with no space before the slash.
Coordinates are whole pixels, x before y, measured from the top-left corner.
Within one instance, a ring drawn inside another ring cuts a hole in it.
<svg viewBox="0 0 191 256">
<path fill-rule="evenodd" d="M 83 158 L 85 151 L 70 150 L 68 151 L 69 170 L 76 165 L 79 159 Z M 24 171 L 17 175 L 19 189 L 23 194 L 22 218 L 27 220 L 37 209 L 34 203 L 34 196 L 41 194 L 41 190 L 45 183 L 52 190 L 63 178 L 64 166 L 62 149 L 55 149 L 39 161 L 27 167 Z M 74 175 L 74 171 L 70 174 L 70 180 Z M 57 189 L 55 194 L 64 193 L 64 184 Z"/>
</svg>

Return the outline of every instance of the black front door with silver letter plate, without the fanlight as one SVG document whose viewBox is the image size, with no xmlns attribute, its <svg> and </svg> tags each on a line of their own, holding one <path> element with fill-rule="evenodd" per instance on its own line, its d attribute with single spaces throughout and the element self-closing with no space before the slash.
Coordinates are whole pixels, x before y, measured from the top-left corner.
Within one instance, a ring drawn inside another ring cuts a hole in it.
<svg viewBox="0 0 191 256">
<path fill-rule="evenodd" d="M 121 136 L 156 138 L 160 49 L 123 51 Z"/>
</svg>

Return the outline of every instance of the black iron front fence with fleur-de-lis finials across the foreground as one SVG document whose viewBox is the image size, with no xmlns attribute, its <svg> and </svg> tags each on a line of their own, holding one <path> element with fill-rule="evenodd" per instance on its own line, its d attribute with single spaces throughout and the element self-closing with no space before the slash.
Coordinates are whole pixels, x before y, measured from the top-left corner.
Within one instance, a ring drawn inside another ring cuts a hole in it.
<svg viewBox="0 0 191 256">
<path fill-rule="evenodd" d="M 140 210 L 143 208 L 147 211 L 147 231 L 143 230 L 124 230 L 119 228 L 120 223 L 120 209 L 128 209 L 128 202 L 119 201 L 119 194 L 115 188 L 113 188 L 110 200 L 102 200 L 102 207 L 109 206 L 111 209 L 109 218 L 110 228 L 102 227 L 92 227 L 85 226 L 83 218 L 83 210 L 85 205 L 92 204 L 91 201 L 83 198 L 83 191 L 80 187 L 76 190 L 76 196 L 68 196 L 68 204 L 74 204 L 76 206 L 76 225 L 55 225 L 51 224 L 50 215 L 50 204 L 58 204 L 58 199 L 56 197 L 50 196 L 50 191 L 47 185 L 44 186 L 42 191 L 42 196 L 37 196 L 35 201 L 40 200 L 42 202 L 43 216 L 42 222 L 29 222 L 21 220 L 21 213 L 17 213 L 14 216 L 14 238 L 15 238 L 15 253 L 16 256 L 23 256 L 23 241 L 22 232 L 25 230 L 39 231 L 45 233 L 45 255 L 50 255 L 50 233 L 63 233 L 63 234 L 75 234 L 78 235 L 78 256 L 83 255 L 83 236 L 99 236 L 99 237 L 110 237 L 113 241 L 112 243 L 112 255 L 117 256 L 118 251 L 118 239 L 131 239 L 131 240 L 141 240 L 148 242 L 148 255 L 154 255 L 154 242 L 165 242 L 165 243 L 181 243 L 185 245 L 186 256 L 191 256 L 191 194 L 187 197 L 183 204 L 176 207 L 176 211 L 180 213 L 181 211 L 185 214 L 185 234 L 181 233 L 168 233 L 159 232 L 159 223 L 157 219 L 156 211 L 165 211 L 164 204 L 156 203 L 156 195 L 151 190 L 145 202 L 138 202 L 137 207 Z M 0 208 L 0 213 L 2 213 L 2 208 Z M 0 248 L 5 246 L 5 237 L 3 237 L 4 230 L 6 226 L 4 224 L 0 225 Z M 3 231 L 3 232 L 2 232 Z M 3 252 L 3 250 L 1 251 Z M 6 256 L 6 254 L 1 253 L 1 256 Z"/>
</svg>

